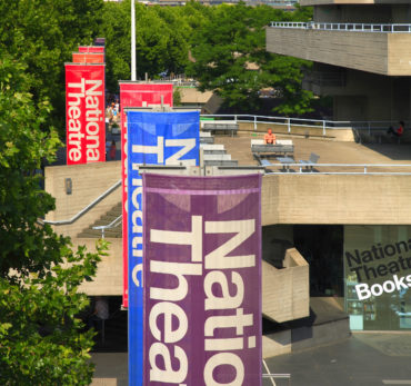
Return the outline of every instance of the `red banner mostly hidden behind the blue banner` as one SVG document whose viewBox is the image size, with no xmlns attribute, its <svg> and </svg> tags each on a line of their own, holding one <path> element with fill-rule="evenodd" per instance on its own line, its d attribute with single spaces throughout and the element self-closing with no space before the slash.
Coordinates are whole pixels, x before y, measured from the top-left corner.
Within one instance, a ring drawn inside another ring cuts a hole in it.
<svg viewBox="0 0 411 386">
<path fill-rule="evenodd" d="M 172 107 L 171 83 L 120 82 L 121 107 L 121 176 L 122 176 L 122 243 L 123 243 L 123 307 L 129 305 L 128 294 L 128 234 L 127 234 L 127 125 L 124 109 L 128 107 Z M 161 98 L 162 97 L 162 98 Z"/>
</svg>

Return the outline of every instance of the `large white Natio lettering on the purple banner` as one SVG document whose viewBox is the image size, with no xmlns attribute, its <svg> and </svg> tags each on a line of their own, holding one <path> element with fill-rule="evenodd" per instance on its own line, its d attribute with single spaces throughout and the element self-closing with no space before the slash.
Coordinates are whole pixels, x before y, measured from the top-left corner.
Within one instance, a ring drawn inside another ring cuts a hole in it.
<svg viewBox="0 0 411 386">
<path fill-rule="evenodd" d="M 234 314 L 217 316 L 211 315 L 204 324 L 204 348 L 207 352 L 218 352 L 212 355 L 204 367 L 204 383 L 207 386 L 241 386 L 244 382 L 244 364 L 240 356 L 232 350 L 243 349 L 244 347 L 244 327 L 253 326 L 252 314 L 243 314 L 240 308 L 244 298 L 244 281 L 239 273 L 231 273 L 231 281 L 235 285 L 237 293 L 230 295 L 227 276 L 221 270 L 215 269 L 237 269 L 245 267 L 255 267 L 255 255 L 228 256 L 255 231 L 255 221 L 206 221 L 206 234 L 235 234 L 228 241 L 217 247 L 206 256 L 206 269 L 213 269 L 207 274 L 204 279 L 206 310 L 212 309 L 232 309 Z M 215 284 L 221 287 L 221 297 L 214 296 L 212 288 Z M 213 338 L 218 329 L 225 331 L 235 331 L 232 338 Z M 247 339 L 248 348 L 255 347 L 255 336 Z M 221 353 L 222 352 L 222 353 Z M 230 383 L 221 384 L 214 379 L 214 369 L 219 366 L 228 365 L 234 369 L 235 377 Z"/>
</svg>

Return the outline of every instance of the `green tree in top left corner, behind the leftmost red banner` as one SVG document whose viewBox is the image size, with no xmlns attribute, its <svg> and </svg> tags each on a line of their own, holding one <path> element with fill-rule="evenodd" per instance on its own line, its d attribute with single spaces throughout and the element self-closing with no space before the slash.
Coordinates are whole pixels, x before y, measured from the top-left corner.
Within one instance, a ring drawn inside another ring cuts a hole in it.
<svg viewBox="0 0 411 386">
<path fill-rule="evenodd" d="M 47 119 L 64 127 L 64 62 L 90 44 L 101 23 L 103 0 L 0 1 L 0 49 L 26 65 L 34 101 L 49 99 Z M 64 130 L 62 130 L 64 132 Z"/>
</svg>

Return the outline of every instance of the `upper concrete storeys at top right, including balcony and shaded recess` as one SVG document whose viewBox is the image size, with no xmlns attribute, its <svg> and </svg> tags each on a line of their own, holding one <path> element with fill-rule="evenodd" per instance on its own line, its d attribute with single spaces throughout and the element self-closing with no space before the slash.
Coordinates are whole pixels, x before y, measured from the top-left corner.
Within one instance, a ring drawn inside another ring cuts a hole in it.
<svg viewBox="0 0 411 386">
<path fill-rule="evenodd" d="M 314 62 L 305 87 L 333 97 L 334 120 L 411 120 L 408 0 L 301 0 L 313 22 L 273 23 L 267 50 Z"/>
</svg>

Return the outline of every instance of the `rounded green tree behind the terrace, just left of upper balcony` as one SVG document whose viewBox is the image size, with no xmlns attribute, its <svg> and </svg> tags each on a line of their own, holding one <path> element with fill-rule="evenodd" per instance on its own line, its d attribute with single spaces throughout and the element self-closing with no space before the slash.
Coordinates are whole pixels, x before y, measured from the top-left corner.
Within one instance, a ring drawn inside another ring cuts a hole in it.
<svg viewBox="0 0 411 386">
<path fill-rule="evenodd" d="M 252 32 L 255 21 L 244 4 L 214 9 L 192 42 L 194 61 L 188 73 L 200 81 L 199 89 L 213 90 L 229 106 L 250 107 L 258 101 L 261 89 L 258 72 L 249 70 L 261 49 Z"/>
</svg>

